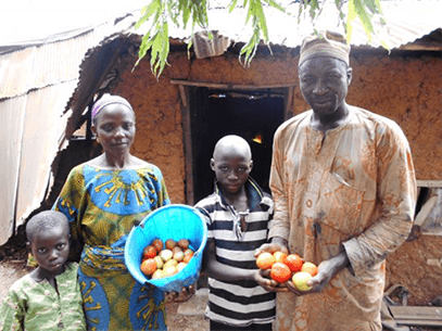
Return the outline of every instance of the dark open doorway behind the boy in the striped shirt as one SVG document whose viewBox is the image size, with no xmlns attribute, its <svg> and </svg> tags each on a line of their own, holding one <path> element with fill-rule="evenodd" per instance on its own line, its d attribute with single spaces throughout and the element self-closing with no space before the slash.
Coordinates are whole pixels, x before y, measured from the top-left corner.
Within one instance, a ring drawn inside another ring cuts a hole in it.
<svg viewBox="0 0 442 331">
<path fill-rule="evenodd" d="M 283 91 L 232 91 L 193 88 L 190 118 L 194 202 L 211 194 L 214 173 L 210 167 L 215 143 L 226 135 L 244 138 L 252 149 L 251 177 L 266 192 L 271 164 L 273 138 L 283 122 Z"/>
</svg>

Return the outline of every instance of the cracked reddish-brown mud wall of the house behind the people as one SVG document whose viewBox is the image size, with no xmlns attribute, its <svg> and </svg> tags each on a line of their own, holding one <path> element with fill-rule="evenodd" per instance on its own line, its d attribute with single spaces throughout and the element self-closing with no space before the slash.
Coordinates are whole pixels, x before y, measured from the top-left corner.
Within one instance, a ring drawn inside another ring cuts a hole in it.
<svg viewBox="0 0 442 331">
<path fill-rule="evenodd" d="M 185 156 L 181 101 L 178 86 L 171 79 L 237 85 L 296 82 L 292 110 L 307 110 L 298 86 L 298 54 L 277 51 L 273 56 L 257 53 L 250 67 L 238 62 L 236 53 L 189 60 L 187 53 L 172 52 L 156 81 L 148 60 L 131 72 L 135 56 L 119 64 L 121 81 L 114 93 L 126 97 L 136 111 L 137 136 L 134 154 L 157 165 L 165 177 L 173 203 L 185 203 Z M 440 54 L 353 51 L 353 81 L 348 102 L 395 120 L 404 130 L 414 156 L 416 177 L 442 179 L 442 59 Z M 411 295 L 409 304 L 426 304 L 442 293 L 442 267 L 428 260 L 442 257 L 442 238 L 424 235 L 405 242 L 388 257 L 387 288 L 401 283 Z"/>
</svg>

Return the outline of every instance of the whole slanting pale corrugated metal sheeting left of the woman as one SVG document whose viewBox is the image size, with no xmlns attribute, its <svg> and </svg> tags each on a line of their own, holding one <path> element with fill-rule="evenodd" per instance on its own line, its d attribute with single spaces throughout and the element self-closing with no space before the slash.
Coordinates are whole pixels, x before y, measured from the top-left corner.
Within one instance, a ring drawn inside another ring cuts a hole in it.
<svg viewBox="0 0 442 331">
<path fill-rule="evenodd" d="M 112 20 L 75 34 L 2 48 L 0 245 L 45 198 L 51 164 L 72 115 L 64 114 L 65 106 L 78 84 L 85 53 L 132 24 L 134 17 L 118 24 Z"/>
</svg>

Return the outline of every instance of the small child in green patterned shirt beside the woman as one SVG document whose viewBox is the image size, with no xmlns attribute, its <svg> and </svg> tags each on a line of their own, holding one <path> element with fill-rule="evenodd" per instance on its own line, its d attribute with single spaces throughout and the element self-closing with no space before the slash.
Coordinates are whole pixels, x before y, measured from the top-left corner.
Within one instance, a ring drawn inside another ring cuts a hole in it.
<svg viewBox="0 0 442 331">
<path fill-rule="evenodd" d="M 0 308 L 0 330 L 86 330 L 76 263 L 66 263 L 70 226 L 46 211 L 26 225 L 38 267 L 12 284 Z"/>
</svg>

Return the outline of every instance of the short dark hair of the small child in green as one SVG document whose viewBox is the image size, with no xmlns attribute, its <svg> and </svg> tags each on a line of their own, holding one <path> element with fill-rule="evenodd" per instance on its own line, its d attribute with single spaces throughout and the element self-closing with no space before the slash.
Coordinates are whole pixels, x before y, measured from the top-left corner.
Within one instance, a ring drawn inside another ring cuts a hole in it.
<svg viewBox="0 0 442 331">
<path fill-rule="evenodd" d="M 70 231 L 67 217 L 63 213 L 56 211 L 40 212 L 33 216 L 26 224 L 27 241 L 31 242 L 37 233 L 59 226 L 65 226 L 67 232 Z"/>
</svg>

